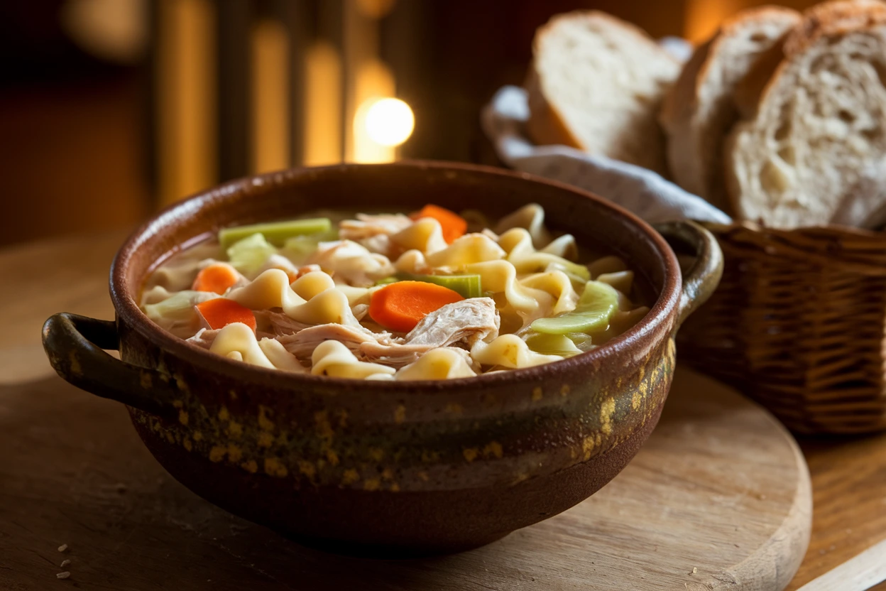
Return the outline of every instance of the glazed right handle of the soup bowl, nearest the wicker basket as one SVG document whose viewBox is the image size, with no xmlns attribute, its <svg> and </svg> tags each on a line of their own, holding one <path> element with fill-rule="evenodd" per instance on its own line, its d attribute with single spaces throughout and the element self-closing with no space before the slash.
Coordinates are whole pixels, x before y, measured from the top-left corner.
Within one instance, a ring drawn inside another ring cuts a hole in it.
<svg viewBox="0 0 886 591">
<path fill-rule="evenodd" d="M 675 251 L 685 251 L 688 247 L 696 257 L 683 275 L 680 312 L 675 326 L 680 328 L 680 324 L 717 289 L 720 277 L 723 276 L 723 252 L 717 244 L 717 238 L 696 222 L 664 222 L 656 224 L 655 229 Z"/>
</svg>

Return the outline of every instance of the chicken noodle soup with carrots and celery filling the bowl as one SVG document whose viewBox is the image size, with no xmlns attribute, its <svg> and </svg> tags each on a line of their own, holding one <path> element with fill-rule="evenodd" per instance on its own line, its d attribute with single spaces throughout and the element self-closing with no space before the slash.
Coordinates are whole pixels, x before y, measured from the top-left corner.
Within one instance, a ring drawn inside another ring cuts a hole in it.
<svg viewBox="0 0 886 591">
<path fill-rule="evenodd" d="M 532 204 L 222 229 L 156 268 L 144 313 L 238 362 L 373 380 L 472 377 L 593 349 L 649 312 L 617 257 L 578 262 Z"/>
</svg>

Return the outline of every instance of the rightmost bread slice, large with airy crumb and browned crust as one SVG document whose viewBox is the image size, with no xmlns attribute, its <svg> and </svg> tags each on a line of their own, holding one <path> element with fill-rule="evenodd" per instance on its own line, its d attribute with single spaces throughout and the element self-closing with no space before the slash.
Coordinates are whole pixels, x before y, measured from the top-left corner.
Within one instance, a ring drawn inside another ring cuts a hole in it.
<svg viewBox="0 0 886 591">
<path fill-rule="evenodd" d="M 886 4 L 819 4 L 725 146 L 737 214 L 770 227 L 864 225 L 886 183 Z"/>
</svg>

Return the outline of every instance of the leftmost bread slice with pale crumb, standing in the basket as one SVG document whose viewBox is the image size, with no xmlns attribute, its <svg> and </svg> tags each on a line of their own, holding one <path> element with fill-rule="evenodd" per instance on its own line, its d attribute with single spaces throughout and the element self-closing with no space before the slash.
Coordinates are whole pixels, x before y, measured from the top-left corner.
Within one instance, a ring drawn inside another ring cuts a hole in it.
<svg viewBox="0 0 886 591">
<path fill-rule="evenodd" d="M 665 173 L 657 122 L 680 62 L 641 29 L 603 12 L 553 17 L 535 34 L 527 77 L 536 144 L 566 144 Z"/>
</svg>

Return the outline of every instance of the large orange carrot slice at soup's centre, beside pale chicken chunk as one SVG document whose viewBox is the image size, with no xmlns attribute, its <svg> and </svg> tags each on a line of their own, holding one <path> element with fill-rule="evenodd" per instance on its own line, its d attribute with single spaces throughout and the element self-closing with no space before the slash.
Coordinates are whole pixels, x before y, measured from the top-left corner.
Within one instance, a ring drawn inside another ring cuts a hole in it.
<svg viewBox="0 0 886 591">
<path fill-rule="evenodd" d="M 389 330 L 408 332 L 434 310 L 461 301 L 447 287 L 423 281 L 398 281 L 372 293 L 369 317 Z"/>
</svg>

